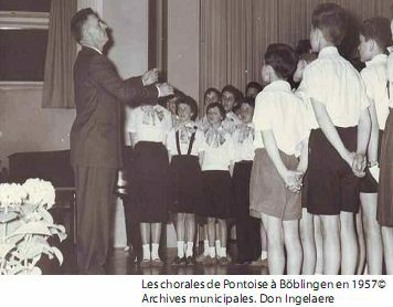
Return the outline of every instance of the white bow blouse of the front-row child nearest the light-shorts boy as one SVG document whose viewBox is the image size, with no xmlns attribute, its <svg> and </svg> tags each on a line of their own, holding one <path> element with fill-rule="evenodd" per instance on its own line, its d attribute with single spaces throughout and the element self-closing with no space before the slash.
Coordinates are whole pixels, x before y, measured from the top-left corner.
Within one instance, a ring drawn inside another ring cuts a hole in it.
<svg viewBox="0 0 393 307">
<path fill-rule="evenodd" d="M 254 124 L 240 125 L 233 134 L 233 144 L 235 149 L 235 162 L 253 161 L 255 149 L 262 148 L 262 135 L 255 133 Z"/>
</svg>

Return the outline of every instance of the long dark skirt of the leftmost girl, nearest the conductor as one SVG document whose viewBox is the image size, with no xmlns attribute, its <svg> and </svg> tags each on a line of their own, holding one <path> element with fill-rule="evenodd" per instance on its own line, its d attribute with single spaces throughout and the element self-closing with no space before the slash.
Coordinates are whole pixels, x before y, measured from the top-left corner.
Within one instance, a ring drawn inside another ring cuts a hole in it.
<svg viewBox="0 0 393 307">
<path fill-rule="evenodd" d="M 161 142 L 139 141 L 135 146 L 130 174 L 136 219 L 142 223 L 167 221 L 169 161 Z"/>
</svg>

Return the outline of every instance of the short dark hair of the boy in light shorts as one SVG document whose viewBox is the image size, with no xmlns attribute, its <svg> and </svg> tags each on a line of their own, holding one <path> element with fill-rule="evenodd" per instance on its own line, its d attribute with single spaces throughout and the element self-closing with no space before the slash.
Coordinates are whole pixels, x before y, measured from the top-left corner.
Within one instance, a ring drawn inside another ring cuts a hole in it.
<svg viewBox="0 0 393 307">
<path fill-rule="evenodd" d="M 264 56 L 265 64 L 270 65 L 278 77 L 288 80 L 295 72 L 298 59 L 294 49 L 287 44 L 270 44 Z"/>
</svg>

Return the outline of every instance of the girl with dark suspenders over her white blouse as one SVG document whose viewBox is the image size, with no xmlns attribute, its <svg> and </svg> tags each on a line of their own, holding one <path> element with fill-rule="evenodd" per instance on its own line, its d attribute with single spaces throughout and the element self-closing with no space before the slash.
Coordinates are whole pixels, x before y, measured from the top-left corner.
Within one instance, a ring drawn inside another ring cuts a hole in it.
<svg viewBox="0 0 393 307">
<path fill-rule="evenodd" d="M 203 204 L 202 172 L 199 155 L 203 133 L 193 121 L 198 105 L 189 96 L 177 104 L 178 124 L 168 134 L 167 148 L 170 157 L 172 202 L 170 211 L 177 214 L 176 232 L 178 255 L 173 265 L 192 265 L 195 234 L 195 212 Z M 184 253 L 185 251 L 185 253 Z"/>
</svg>

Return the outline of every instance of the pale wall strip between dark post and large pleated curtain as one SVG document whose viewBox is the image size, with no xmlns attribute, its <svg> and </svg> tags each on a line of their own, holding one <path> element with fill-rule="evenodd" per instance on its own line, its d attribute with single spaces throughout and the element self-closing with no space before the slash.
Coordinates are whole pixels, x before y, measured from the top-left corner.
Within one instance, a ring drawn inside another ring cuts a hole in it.
<svg viewBox="0 0 393 307">
<path fill-rule="evenodd" d="M 168 0 L 168 81 L 199 100 L 200 1 Z"/>
</svg>

